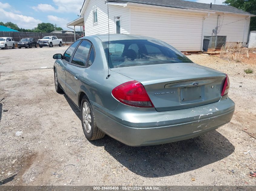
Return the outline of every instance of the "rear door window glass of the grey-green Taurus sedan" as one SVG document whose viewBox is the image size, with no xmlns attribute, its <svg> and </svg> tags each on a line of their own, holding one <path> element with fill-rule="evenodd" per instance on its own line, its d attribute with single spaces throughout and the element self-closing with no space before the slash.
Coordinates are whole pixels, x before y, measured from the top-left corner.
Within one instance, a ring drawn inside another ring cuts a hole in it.
<svg viewBox="0 0 256 191">
<path fill-rule="evenodd" d="M 85 66 L 90 49 L 91 49 L 91 43 L 89 43 L 87 40 L 82 40 L 82 42 L 80 43 L 80 45 L 75 51 L 75 54 L 72 59 L 72 63 L 80 66 Z"/>
</svg>

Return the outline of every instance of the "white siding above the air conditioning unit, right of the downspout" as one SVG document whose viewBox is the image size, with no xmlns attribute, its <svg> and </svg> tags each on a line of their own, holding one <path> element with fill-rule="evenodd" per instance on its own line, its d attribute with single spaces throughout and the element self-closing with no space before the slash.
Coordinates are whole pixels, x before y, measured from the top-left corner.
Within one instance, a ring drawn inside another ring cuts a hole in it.
<svg viewBox="0 0 256 191">
<path fill-rule="evenodd" d="M 204 21 L 204 36 L 214 36 L 212 30 L 217 26 L 217 17 L 219 13 L 211 14 Z M 250 19 L 248 16 L 220 14 L 218 36 L 227 36 L 227 42 L 247 42 Z M 224 19 L 223 19 L 224 17 Z M 241 20 L 241 21 L 239 21 Z M 223 22 L 222 22 L 223 21 Z M 245 27 L 244 27 L 245 25 Z M 243 40 L 244 38 L 244 40 Z"/>
</svg>

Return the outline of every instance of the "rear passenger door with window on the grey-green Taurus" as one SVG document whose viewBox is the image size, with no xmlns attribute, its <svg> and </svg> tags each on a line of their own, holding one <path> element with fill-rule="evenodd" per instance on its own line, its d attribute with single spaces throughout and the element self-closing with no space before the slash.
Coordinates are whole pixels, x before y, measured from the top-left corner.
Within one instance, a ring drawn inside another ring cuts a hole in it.
<svg viewBox="0 0 256 191">
<path fill-rule="evenodd" d="M 91 42 L 82 40 L 72 57 L 72 61 L 65 68 L 66 91 L 68 97 L 78 105 L 78 90 L 80 88 L 80 77 L 85 71 L 88 62 L 88 55 L 91 50 Z"/>
</svg>

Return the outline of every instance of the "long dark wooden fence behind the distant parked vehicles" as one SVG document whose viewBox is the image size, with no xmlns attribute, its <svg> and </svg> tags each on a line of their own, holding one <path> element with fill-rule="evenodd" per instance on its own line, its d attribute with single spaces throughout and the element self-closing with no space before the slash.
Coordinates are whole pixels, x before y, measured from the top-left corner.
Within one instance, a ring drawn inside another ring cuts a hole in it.
<svg viewBox="0 0 256 191">
<path fill-rule="evenodd" d="M 35 40 L 42 39 L 45 36 L 56 36 L 58 39 L 62 39 L 64 44 L 72 44 L 76 40 L 81 38 L 81 36 L 74 34 L 63 34 L 63 33 L 33 33 L 33 32 L 5 32 L 0 31 L 0 37 L 12 37 L 16 42 L 20 41 L 22 38 L 34 38 Z"/>
</svg>

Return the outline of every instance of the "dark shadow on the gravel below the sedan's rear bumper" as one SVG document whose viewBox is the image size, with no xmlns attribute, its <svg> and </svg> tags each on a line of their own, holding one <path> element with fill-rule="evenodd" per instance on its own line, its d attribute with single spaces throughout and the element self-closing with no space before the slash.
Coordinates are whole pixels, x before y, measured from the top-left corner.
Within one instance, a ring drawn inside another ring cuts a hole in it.
<svg viewBox="0 0 256 191">
<path fill-rule="evenodd" d="M 196 138 L 155 146 L 130 147 L 109 136 L 91 143 L 104 146 L 121 165 L 142 177 L 184 173 L 220 161 L 234 152 L 234 146 L 216 130 Z"/>
</svg>

